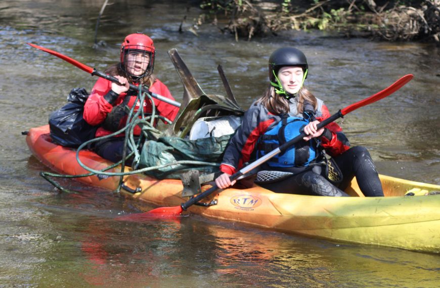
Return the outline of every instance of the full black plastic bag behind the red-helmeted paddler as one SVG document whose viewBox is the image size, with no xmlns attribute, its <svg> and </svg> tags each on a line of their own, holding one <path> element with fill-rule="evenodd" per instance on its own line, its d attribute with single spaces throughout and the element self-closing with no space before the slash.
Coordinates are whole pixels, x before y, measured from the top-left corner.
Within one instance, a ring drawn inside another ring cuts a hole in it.
<svg viewBox="0 0 440 288">
<path fill-rule="evenodd" d="M 92 126 L 82 118 L 87 98 L 89 93 L 84 88 L 73 88 L 67 97 L 69 103 L 51 114 L 49 127 L 54 143 L 76 148 L 95 138 L 98 126 Z"/>
</svg>

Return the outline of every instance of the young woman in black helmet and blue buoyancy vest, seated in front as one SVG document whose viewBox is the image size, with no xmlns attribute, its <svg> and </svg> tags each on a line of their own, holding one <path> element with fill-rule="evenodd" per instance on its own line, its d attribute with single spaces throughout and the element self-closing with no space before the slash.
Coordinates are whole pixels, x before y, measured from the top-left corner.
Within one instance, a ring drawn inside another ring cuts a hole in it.
<svg viewBox="0 0 440 288">
<path fill-rule="evenodd" d="M 264 155 L 279 146 L 282 138 L 287 138 L 295 130 L 297 135 L 302 128 L 307 135 L 303 141 L 262 164 L 262 171 L 258 172 L 263 175 L 275 171 L 278 176 L 270 181 L 260 180 L 258 184 L 277 193 L 348 196 L 343 190 L 356 176 L 365 196 L 383 196 L 378 173 L 367 149 L 361 146 L 350 148 L 336 123 L 317 129 L 318 123 L 330 113 L 322 100 L 303 87 L 308 68 L 305 55 L 293 47 L 278 49 L 271 55 L 270 86 L 251 105 L 231 139 L 221 165 L 224 174 L 215 179 L 219 188 L 235 183 L 231 183 L 229 176 L 250 160 L 254 150 L 257 156 Z M 339 167 L 342 180 L 329 180 L 324 152 Z"/>
</svg>

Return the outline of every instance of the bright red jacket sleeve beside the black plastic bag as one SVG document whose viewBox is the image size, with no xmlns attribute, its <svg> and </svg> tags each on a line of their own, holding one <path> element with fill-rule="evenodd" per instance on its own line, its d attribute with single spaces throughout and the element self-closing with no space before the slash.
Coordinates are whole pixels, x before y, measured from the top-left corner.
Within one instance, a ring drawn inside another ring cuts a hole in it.
<svg viewBox="0 0 440 288">
<path fill-rule="evenodd" d="M 113 106 L 104 99 L 110 89 L 111 82 L 104 78 L 99 78 L 93 86 L 92 92 L 84 104 L 83 112 L 84 120 L 90 125 L 101 124 L 107 114 L 112 111 Z"/>
</svg>

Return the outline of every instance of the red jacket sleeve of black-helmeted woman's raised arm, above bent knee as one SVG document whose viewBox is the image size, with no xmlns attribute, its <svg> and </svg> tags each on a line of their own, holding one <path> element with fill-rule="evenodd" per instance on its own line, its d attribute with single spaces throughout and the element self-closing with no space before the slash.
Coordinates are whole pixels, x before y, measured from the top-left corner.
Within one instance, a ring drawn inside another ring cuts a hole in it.
<svg viewBox="0 0 440 288">
<path fill-rule="evenodd" d="M 317 117 L 318 121 L 323 121 L 331 116 L 325 105 L 322 106 L 321 112 L 322 116 Z M 335 122 L 325 126 L 325 130 L 321 135 L 320 140 L 321 146 L 325 149 L 327 154 L 332 157 L 338 156 L 350 148 L 350 143 L 348 142 L 347 137 L 342 132 L 341 127 Z"/>
</svg>

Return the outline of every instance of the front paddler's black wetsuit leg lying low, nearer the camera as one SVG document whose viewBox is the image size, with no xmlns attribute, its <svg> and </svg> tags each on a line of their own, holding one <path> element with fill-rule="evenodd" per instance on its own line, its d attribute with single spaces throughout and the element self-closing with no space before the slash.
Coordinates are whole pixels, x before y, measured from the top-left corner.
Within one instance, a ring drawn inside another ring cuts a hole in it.
<svg viewBox="0 0 440 288">
<path fill-rule="evenodd" d="M 349 196 L 318 173 L 312 170 L 307 170 L 281 181 L 258 184 L 276 193 L 336 197 Z"/>
</svg>

